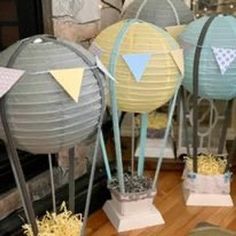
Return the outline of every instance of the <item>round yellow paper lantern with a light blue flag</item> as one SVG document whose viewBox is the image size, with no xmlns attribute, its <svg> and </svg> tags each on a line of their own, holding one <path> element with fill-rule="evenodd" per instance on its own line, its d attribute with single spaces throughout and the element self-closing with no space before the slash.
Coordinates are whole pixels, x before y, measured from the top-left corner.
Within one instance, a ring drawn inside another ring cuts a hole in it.
<svg viewBox="0 0 236 236">
<path fill-rule="evenodd" d="M 181 77 L 177 64 L 183 58 L 178 43 L 166 31 L 139 20 L 121 21 L 106 28 L 90 50 L 100 55 L 110 71 L 114 66 L 121 111 L 144 113 L 162 106 Z M 133 74 L 140 70 L 143 74 L 137 81 Z"/>
</svg>

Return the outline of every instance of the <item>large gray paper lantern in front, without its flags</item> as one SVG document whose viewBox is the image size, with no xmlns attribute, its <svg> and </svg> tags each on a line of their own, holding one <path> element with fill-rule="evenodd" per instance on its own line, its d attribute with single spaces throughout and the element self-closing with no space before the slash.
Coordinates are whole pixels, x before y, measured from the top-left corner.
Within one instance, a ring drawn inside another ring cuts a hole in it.
<svg viewBox="0 0 236 236">
<path fill-rule="evenodd" d="M 0 66 L 26 71 L 5 99 L 17 148 L 55 153 L 96 132 L 104 110 L 98 70 L 84 71 L 78 103 L 48 73 L 52 69 L 88 68 L 94 64 L 93 56 L 81 46 L 48 36 L 22 40 L 0 54 Z M 4 138 L 1 125 L 0 138 Z"/>
</svg>

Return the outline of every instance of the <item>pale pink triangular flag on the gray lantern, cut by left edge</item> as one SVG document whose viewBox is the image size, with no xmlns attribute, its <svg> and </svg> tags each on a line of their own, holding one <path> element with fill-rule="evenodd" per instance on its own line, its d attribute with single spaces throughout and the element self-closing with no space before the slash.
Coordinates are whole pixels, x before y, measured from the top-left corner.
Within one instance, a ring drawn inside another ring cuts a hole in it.
<svg viewBox="0 0 236 236">
<path fill-rule="evenodd" d="M 14 86 L 24 73 L 23 70 L 0 67 L 0 98 Z"/>
</svg>

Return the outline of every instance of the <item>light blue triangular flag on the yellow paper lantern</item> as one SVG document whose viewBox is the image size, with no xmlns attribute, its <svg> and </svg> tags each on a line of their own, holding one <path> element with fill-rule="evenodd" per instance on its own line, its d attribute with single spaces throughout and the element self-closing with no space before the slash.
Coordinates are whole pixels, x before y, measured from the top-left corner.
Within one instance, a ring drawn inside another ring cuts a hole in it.
<svg viewBox="0 0 236 236">
<path fill-rule="evenodd" d="M 123 59 L 128 65 L 135 80 L 140 81 L 151 59 L 151 54 L 149 53 L 126 54 L 123 55 Z"/>
</svg>

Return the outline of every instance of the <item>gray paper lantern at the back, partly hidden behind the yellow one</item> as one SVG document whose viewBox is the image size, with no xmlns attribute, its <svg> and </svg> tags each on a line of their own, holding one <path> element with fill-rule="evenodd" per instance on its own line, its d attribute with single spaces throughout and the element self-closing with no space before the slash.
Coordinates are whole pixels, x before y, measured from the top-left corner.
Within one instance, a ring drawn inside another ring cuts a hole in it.
<svg viewBox="0 0 236 236">
<path fill-rule="evenodd" d="M 188 24 L 193 20 L 191 10 L 182 0 L 134 0 L 122 18 L 136 17 L 162 28 Z"/>
</svg>

